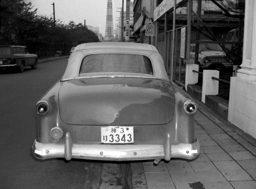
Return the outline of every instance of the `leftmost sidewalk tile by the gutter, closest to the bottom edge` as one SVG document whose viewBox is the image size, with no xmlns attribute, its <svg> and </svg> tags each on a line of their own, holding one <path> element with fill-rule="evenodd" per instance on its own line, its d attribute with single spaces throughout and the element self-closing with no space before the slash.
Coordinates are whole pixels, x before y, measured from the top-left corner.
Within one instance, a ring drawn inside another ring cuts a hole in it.
<svg viewBox="0 0 256 189">
<path fill-rule="evenodd" d="M 154 184 L 165 184 L 173 183 L 172 178 L 169 173 L 145 173 L 147 186 L 152 186 Z"/>
</svg>

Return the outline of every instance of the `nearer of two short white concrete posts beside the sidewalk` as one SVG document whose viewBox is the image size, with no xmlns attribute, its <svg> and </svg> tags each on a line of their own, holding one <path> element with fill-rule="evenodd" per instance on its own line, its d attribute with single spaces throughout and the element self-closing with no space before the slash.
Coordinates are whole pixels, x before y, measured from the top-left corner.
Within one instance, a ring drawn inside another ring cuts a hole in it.
<svg viewBox="0 0 256 189">
<path fill-rule="evenodd" d="M 202 102 L 204 102 L 204 103 L 205 103 L 206 95 L 217 95 L 218 94 L 219 81 L 212 79 L 212 77 L 219 78 L 219 71 L 204 70 L 203 86 L 202 86 Z"/>
</svg>

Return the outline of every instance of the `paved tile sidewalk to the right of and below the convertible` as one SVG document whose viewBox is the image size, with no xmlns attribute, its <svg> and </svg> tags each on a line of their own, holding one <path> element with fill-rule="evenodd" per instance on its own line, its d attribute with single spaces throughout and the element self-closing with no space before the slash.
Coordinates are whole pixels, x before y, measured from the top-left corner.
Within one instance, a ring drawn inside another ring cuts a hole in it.
<svg viewBox="0 0 256 189">
<path fill-rule="evenodd" d="M 195 135 L 201 143 L 196 160 L 131 163 L 133 189 L 256 189 L 253 137 L 200 101 Z"/>
</svg>

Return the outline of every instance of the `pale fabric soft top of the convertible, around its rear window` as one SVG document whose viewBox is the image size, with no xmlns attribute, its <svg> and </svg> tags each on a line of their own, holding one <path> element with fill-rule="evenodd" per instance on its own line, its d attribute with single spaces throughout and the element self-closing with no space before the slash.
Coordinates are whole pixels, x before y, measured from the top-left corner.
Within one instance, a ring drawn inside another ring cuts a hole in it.
<svg viewBox="0 0 256 189">
<path fill-rule="evenodd" d="M 151 60 L 154 78 L 169 79 L 163 64 L 163 58 L 153 45 L 128 42 L 98 42 L 76 46 L 70 55 L 67 68 L 61 80 L 78 79 L 81 62 L 85 56 L 111 53 L 145 55 Z"/>
</svg>

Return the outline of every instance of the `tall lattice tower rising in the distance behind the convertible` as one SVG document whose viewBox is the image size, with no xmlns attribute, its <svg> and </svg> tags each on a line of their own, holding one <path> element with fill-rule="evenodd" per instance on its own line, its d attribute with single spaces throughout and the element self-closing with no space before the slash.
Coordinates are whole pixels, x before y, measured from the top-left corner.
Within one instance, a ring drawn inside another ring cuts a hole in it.
<svg viewBox="0 0 256 189">
<path fill-rule="evenodd" d="M 112 0 L 108 0 L 105 37 L 114 37 Z"/>
</svg>

